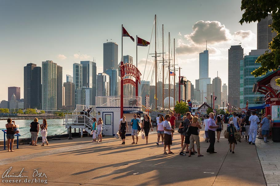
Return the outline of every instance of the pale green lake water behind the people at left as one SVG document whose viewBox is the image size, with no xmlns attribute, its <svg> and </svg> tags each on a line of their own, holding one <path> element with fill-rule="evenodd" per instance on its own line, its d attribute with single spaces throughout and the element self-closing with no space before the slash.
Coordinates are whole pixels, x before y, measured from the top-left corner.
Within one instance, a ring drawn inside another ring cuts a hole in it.
<svg viewBox="0 0 280 186">
<path fill-rule="evenodd" d="M 30 130 L 30 123 L 33 122 L 31 119 L 22 119 L 22 120 L 15 120 L 15 124 L 19 125 L 19 134 L 22 136 L 18 138 L 31 138 Z M 38 121 L 40 124 L 43 123 L 42 119 Z M 7 120 L 0 120 L 0 140 L 4 139 L 4 132 L 2 129 L 6 129 Z M 63 119 L 47 119 L 48 123 L 48 136 L 56 135 L 56 134 L 66 134 L 67 130 L 65 125 L 63 125 Z M 27 134 L 26 134 L 27 133 Z M 40 132 L 38 134 L 40 137 Z"/>
</svg>

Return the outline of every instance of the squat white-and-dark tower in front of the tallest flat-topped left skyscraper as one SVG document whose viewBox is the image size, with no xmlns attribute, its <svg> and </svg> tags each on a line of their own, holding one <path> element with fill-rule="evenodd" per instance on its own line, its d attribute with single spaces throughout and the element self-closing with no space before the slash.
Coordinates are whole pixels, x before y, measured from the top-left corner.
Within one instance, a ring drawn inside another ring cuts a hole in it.
<svg viewBox="0 0 280 186">
<path fill-rule="evenodd" d="M 97 87 L 97 96 L 110 96 L 110 76 L 105 73 L 98 73 Z"/>
</svg>

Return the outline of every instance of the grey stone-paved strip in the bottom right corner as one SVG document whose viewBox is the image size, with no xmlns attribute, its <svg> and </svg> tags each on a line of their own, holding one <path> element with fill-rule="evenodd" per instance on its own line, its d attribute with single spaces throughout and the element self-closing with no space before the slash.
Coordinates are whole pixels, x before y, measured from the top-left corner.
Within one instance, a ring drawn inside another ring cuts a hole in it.
<svg viewBox="0 0 280 186">
<path fill-rule="evenodd" d="M 263 139 L 256 139 L 258 157 L 267 186 L 280 186 L 280 143 L 269 140 L 264 143 Z"/>
</svg>

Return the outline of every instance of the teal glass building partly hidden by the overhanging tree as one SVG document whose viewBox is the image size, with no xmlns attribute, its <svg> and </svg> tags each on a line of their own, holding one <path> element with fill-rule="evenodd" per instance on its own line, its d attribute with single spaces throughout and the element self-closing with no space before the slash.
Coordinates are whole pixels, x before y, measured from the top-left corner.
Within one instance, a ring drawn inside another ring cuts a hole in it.
<svg viewBox="0 0 280 186">
<path fill-rule="evenodd" d="M 266 49 L 251 50 L 249 55 L 244 56 L 244 60 L 240 60 L 240 108 L 246 107 L 247 100 L 249 107 L 261 106 L 264 102 L 264 95 L 253 92 L 253 85 L 263 76 L 254 77 L 251 72 L 261 66 L 260 63 L 255 63 L 258 56 L 262 55 Z"/>
</svg>

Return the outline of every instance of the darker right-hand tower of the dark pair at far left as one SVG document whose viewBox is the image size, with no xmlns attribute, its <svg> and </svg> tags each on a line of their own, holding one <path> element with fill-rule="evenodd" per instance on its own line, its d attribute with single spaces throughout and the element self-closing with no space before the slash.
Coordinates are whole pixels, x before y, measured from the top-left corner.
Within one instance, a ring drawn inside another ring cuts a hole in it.
<svg viewBox="0 0 280 186">
<path fill-rule="evenodd" d="M 32 70 L 31 79 L 31 106 L 30 108 L 42 108 L 42 68 L 35 67 Z"/>
</svg>

